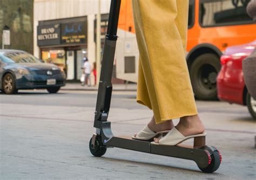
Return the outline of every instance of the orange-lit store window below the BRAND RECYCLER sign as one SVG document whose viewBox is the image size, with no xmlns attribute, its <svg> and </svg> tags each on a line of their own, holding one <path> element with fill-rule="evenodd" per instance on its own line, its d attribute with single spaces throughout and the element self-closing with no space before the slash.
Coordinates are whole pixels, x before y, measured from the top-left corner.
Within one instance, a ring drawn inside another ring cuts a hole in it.
<svg viewBox="0 0 256 180">
<path fill-rule="evenodd" d="M 42 60 L 57 65 L 61 70 L 66 69 L 64 50 L 42 51 Z"/>
</svg>

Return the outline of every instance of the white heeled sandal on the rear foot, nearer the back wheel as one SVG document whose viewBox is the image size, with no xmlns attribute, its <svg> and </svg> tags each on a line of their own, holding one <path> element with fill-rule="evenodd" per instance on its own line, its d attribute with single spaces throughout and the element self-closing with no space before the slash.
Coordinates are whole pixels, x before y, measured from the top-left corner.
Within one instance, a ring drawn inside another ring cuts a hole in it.
<svg viewBox="0 0 256 180">
<path fill-rule="evenodd" d="M 151 142 L 151 144 L 156 144 L 156 145 L 168 145 L 168 146 L 176 146 L 177 144 L 191 139 L 193 137 L 203 137 L 206 136 L 206 133 L 203 134 L 197 134 L 197 135 L 192 135 L 192 136 L 184 136 L 181 134 L 176 127 L 172 128 L 172 130 L 169 131 L 168 134 L 166 134 L 163 138 L 159 140 L 159 143 L 156 142 Z"/>
</svg>

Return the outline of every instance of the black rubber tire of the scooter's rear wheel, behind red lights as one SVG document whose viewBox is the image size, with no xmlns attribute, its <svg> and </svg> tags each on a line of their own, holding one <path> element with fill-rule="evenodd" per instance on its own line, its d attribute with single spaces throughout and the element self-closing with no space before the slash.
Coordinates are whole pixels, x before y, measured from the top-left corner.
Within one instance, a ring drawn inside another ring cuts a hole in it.
<svg viewBox="0 0 256 180">
<path fill-rule="evenodd" d="M 205 151 L 208 151 L 207 150 L 207 147 L 204 148 Z M 221 156 L 218 152 L 218 150 L 214 150 L 212 155 L 211 155 L 211 163 L 206 167 L 206 168 L 201 168 L 198 166 L 198 168 L 203 171 L 203 172 L 206 172 L 206 173 L 212 173 L 214 171 L 216 171 L 217 169 L 219 169 L 220 167 L 220 163 L 221 163 Z"/>
</svg>

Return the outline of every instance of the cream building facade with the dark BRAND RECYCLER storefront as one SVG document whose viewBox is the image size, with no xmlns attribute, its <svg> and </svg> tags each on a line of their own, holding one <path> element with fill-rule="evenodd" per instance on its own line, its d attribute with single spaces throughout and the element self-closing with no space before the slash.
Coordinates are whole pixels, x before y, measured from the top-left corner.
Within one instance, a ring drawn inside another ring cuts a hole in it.
<svg viewBox="0 0 256 180">
<path fill-rule="evenodd" d="M 101 0 L 102 47 L 110 0 Z M 96 61 L 96 0 L 34 0 L 33 54 L 66 72 L 67 80 L 78 81 L 83 57 Z"/>
</svg>

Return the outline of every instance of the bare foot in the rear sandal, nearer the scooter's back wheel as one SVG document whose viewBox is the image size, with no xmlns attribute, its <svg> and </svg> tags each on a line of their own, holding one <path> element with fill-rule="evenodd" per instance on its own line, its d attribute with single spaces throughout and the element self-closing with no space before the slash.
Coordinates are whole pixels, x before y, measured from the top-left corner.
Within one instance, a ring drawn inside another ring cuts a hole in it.
<svg viewBox="0 0 256 180">
<path fill-rule="evenodd" d="M 183 136 L 191 136 L 204 133 L 205 127 L 198 115 L 181 117 L 176 129 Z M 159 143 L 160 139 L 154 139 L 154 142 Z"/>
</svg>

